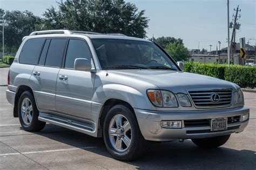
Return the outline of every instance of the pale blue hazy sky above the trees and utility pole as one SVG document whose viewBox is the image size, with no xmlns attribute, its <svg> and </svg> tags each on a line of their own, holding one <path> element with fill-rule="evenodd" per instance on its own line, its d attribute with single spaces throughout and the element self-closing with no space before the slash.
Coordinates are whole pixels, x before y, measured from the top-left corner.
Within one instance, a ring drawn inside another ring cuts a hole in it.
<svg viewBox="0 0 256 170">
<path fill-rule="evenodd" d="M 59 0 L 57 0 L 59 1 Z M 145 10 L 150 19 L 147 37 L 170 36 L 183 39 L 188 49 L 216 50 L 227 46 L 227 0 L 125 0 Z M 230 0 L 230 21 L 239 5 L 240 30 L 236 42 L 245 37 L 246 43 L 255 44 L 256 0 Z M 45 9 L 57 7 L 56 0 L 0 0 L 4 10 L 29 10 L 42 16 Z M 232 33 L 232 30 L 230 29 Z M 231 35 L 230 33 L 230 35 Z M 230 36 L 231 37 L 231 36 Z M 219 45 L 218 45 L 219 47 Z"/>
</svg>

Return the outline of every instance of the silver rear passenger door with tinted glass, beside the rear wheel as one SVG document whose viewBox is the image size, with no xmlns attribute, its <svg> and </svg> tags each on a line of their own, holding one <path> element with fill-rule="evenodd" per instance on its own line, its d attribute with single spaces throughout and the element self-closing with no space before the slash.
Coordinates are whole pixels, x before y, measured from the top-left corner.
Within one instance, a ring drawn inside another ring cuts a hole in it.
<svg viewBox="0 0 256 170">
<path fill-rule="evenodd" d="M 49 38 L 30 79 L 39 109 L 56 111 L 56 80 L 66 46 L 66 38 Z"/>
</svg>

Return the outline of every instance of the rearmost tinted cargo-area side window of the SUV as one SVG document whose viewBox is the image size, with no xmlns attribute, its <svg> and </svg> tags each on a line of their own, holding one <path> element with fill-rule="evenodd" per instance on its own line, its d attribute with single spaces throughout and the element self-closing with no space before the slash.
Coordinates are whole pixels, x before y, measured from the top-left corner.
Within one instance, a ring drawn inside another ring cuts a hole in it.
<svg viewBox="0 0 256 170">
<path fill-rule="evenodd" d="M 45 38 L 28 39 L 19 55 L 19 63 L 37 64 Z"/>
</svg>

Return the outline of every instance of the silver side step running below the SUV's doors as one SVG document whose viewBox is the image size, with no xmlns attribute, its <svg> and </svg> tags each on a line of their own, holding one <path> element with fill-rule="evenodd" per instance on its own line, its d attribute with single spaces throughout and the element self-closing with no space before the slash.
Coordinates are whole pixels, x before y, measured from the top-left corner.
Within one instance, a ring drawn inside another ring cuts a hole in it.
<svg viewBox="0 0 256 170">
<path fill-rule="evenodd" d="M 52 114 L 46 114 L 46 113 L 40 112 L 38 120 L 45 121 L 46 123 L 62 126 L 65 128 L 69 128 L 71 130 L 82 132 L 89 135 L 93 135 L 93 133 L 95 133 L 94 125 L 82 123 L 75 120 L 70 120 L 67 118 L 58 117 Z"/>
</svg>

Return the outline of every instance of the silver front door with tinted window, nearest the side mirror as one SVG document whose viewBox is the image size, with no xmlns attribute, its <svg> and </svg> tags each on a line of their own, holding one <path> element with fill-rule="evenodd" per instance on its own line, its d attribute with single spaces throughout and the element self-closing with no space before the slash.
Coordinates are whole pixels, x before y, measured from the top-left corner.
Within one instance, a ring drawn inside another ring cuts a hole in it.
<svg viewBox="0 0 256 170">
<path fill-rule="evenodd" d="M 91 100 L 95 73 L 74 70 L 76 58 L 93 60 L 89 46 L 83 39 L 69 39 L 65 63 L 58 73 L 56 110 L 75 117 L 91 118 Z"/>
</svg>

